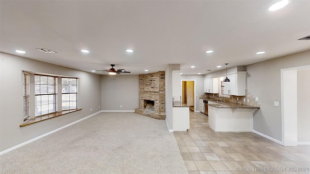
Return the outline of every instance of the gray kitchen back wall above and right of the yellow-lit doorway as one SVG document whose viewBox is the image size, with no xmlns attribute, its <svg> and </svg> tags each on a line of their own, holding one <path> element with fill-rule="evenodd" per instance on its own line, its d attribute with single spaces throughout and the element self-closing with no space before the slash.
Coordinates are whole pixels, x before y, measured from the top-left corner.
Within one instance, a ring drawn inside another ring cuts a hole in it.
<svg viewBox="0 0 310 174">
<path fill-rule="evenodd" d="M 189 76 L 189 77 L 187 77 Z M 203 78 L 204 75 L 181 75 L 181 80 L 195 80 L 195 89 L 196 89 L 196 105 L 195 111 L 199 111 L 199 97 L 204 94 L 203 92 Z M 194 94 L 194 95 L 196 95 Z"/>
</svg>

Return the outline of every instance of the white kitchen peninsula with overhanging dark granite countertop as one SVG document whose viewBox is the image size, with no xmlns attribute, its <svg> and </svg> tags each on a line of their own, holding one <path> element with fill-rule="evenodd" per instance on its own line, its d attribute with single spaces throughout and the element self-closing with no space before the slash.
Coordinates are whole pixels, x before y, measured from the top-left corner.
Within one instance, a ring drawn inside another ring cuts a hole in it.
<svg viewBox="0 0 310 174">
<path fill-rule="evenodd" d="M 209 126 L 214 131 L 252 131 L 253 113 L 258 109 L 255 106 L 209 100 Z"/>
</svg>

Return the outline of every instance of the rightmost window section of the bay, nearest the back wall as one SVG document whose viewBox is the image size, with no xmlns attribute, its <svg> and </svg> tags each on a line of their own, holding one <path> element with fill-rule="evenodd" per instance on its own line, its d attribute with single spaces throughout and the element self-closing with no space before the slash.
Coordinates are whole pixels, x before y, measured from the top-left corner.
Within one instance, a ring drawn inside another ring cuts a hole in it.
<svg viewBox="0 0 310 174">
<path fill-rule="evenodd" d="M 77 79 L 62 78 L 62 110 L 77 109 Z"/>
</svg>

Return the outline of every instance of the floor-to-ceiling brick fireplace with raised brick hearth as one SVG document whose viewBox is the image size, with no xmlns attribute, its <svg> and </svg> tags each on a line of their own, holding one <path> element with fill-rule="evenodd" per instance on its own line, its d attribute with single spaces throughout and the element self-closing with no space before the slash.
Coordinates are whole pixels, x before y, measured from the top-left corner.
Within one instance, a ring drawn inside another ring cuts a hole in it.
<svg viewBox="0 0 310 174">
<path fill-rule="evenodd" d="M 165 119 L 165 100 L 165 72 L 139 74 L 139 108 L 135 113 Z"/>
</svg>

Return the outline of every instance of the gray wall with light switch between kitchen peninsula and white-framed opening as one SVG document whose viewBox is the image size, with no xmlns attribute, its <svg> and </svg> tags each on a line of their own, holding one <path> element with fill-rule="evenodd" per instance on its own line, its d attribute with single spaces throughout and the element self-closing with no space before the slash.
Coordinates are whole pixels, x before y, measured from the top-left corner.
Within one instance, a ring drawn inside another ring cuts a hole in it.
<svg viewBox="0 0 310 174">
<path fill-rule="evenodd" d="M 259 97 L 261 108 L 254 114 L 254 130 L 281 139 L 280 70 L 284 68 L 310 65 L 310 50 L 274 58 L 246 66 L 247 89 L 253 97 Z"/>
</svg>

